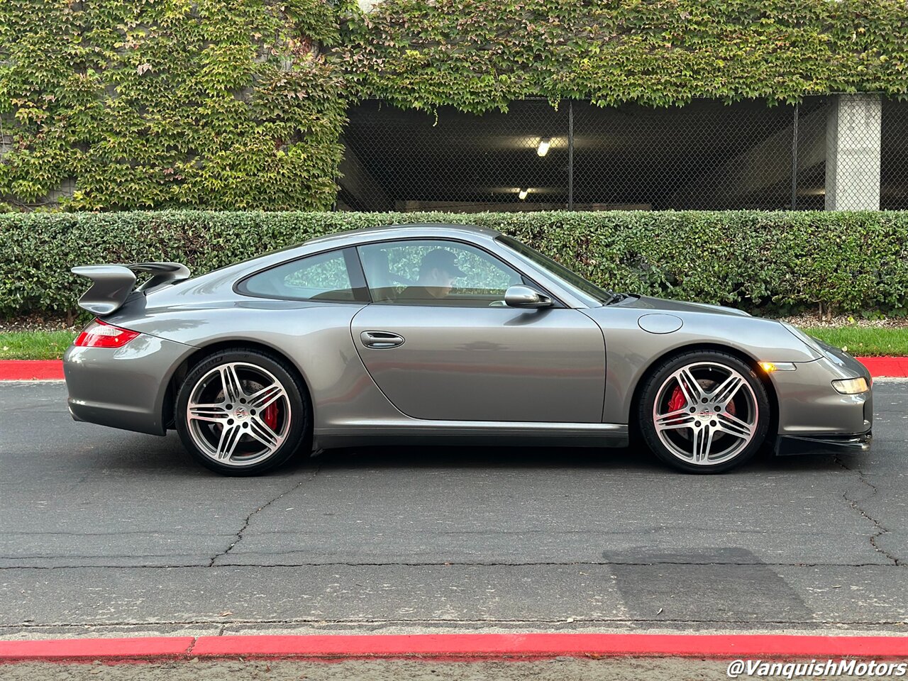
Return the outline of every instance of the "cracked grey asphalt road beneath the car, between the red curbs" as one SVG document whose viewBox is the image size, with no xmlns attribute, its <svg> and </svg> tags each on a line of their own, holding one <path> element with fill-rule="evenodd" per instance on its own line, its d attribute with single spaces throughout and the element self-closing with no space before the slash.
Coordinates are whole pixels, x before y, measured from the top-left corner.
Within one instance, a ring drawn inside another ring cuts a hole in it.
<svg viewBox="0 0 908 681">
<path fill-rule="evenodd" d="M 335 450 L 221 478 L 0 384 L 0 637 L 908 633 L 908 382 L 873 449 L 689 476 L 633 449 Z"/>
</svg>

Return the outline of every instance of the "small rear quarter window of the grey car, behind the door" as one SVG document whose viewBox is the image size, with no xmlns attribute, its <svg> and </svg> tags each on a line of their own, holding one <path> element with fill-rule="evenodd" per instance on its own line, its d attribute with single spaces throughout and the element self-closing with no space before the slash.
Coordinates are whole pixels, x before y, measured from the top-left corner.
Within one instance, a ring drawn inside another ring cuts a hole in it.
<svg viewBox="0 0 908 681">
<path fill-rule="evenodd" d="M 239 290 L 266 298 L 298 301 L 368 301 L 366 291 L 350 281 L 350 251 L 330 251 L 285 262 L 242 281 Z M 362 277 L 360 276 L 360 279 Z"/>
</svg>

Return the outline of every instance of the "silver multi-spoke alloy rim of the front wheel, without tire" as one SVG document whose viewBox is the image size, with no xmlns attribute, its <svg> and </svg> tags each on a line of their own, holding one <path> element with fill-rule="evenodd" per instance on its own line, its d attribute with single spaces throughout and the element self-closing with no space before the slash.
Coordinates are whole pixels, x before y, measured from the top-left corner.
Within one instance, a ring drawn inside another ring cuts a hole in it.
<svg viewBox="0 0 908 681">
<path fill-rule="evenodd" d="M 672 405 L 677 390 L 684 400 L 680 408 Z M 697 466 L 734 458 L 753 441 L 758 421 L 750 383 L 731 367 L 711 361 L 672 373 L 659 386 L 653 406 L 659 440 L 677 459 Z"/>
</svg>

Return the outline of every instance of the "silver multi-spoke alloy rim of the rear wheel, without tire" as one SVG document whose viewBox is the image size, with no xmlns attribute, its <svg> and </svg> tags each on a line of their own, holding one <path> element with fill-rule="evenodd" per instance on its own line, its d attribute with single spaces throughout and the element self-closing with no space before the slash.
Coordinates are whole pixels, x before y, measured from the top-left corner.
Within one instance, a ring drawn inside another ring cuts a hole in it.
<svg viewBox="0 0 908 681">
<path fill-rule="evenodd" d="M 205 373 L 192 387 L 185 414 L 195 446 L 235 467 L 251 466 L 281 449 L 291 416 L 281 381 L 247 362 L 221 364 Z"/>
</svg>

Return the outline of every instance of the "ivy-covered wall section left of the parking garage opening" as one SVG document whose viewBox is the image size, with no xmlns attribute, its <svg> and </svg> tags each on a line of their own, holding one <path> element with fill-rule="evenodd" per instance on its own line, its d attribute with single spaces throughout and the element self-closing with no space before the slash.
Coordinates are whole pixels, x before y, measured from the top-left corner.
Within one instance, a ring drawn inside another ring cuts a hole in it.
<svg viewBox="0 0 908 681">
<path fill-rule="evenodd" d="M 328 208 L 336 35 L 325 0 L 2 0 L 0 202 Z"/>
</svg>

